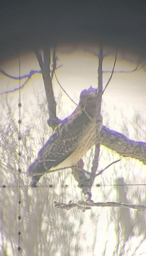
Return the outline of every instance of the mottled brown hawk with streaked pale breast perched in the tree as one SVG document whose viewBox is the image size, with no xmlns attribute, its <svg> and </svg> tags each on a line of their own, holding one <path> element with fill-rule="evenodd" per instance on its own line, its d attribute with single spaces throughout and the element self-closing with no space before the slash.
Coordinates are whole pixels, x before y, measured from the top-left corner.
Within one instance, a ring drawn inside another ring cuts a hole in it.
<svg viewBox="0 0 146 256">
<path fill-rule="evenodd" d="M 27 176 L 35 174 L 32 176 L 30 187 L 36 187 L 41 173 L 75 166 L 95 144 L 97 95 L 97 89 L 92 87 L 81 92 L 79 105 L 56 127 L 29 166 Z M 101 127 L 102 121 L 100 130 Z"/>
</svg>

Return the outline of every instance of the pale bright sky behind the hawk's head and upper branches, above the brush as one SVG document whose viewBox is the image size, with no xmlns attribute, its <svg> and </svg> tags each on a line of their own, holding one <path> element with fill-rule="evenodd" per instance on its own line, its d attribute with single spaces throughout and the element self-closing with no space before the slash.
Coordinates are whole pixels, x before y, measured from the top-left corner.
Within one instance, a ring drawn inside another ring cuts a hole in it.
<svg viewBox="0 0 146 256">
<path fill-rule="evenodd" d="M 90 50 L 94 54 L 87 52 L 87 50 Z M 58 65 L 63 64 L 63 66 L 56 71 L 56 75 L 64 90 L 66 90 L 66 92 L 72 98 L 77 97 L 79 99 L 80 92 L 83 89 L 89 88 L 90 85 L 92 85 L 92 87 L 97 86 L 98 57 L 95 54 L 98 54 L 98 49 L 96 49 L 96 51 L 95 49 L 94 51 L 91 49 L 87 50 L 73 50 L 72 48 L 67 48 L 65 50 L 63 47 L 60 47 L 56 53 L 57 57 L 59 58 Z M 112 70 L 114 56 L 115 54 L 106 56 L 104 58 L 104 71 Z M 115 71 L 131 71 L 135 69 L 138 64 L 137 58 L 131 56 L 129 59 L 131 60 L 131 63 L 118 55 Z M 2 64 L 1 68 L 9 75 L 19 76 L 19 60 L 17 58 Z M 21 75 L 29 73 L 32 69 L 40 69 L 35 55 L 28 54 L 21 56 Z M 108 81 L 109 76 L 110 73 L 103 74 L 103 86 Z M 105 91 L 103 101 L 108 104 L 108 107 L 113 105 L 134 107 L 135 110 L 140 110 L 144 114 L 146 112 L 143 111 L 145 109 L 146 96 L 145 78 L 146 72 L 144 69 L 133 73 L 115 73 Z M 2 74 L 0 74 L 0 79 L 1 92 L 19 86 L 19 81 L 16 82 L 16 80 L 6 78 Z M 26 79 L 24 79 L 24 81 L 25 80 Z M 23 81 L 21 81 L 21 83 L 23 83 Z M 57 96 L 61 90 L 56 82 L 56 79 L 53 79 L 53 86 L 55 89 L 55 95 Z M 27 85 L 25 85 L 25 88 L 22 90 L 25 92 L 25 94 L 27 94 L 27 100 L 32 100 L 32 90 L 34 90 L 36 93 L 44 90 L 43 81 L 40 74 L 33 75 Z M 65 97 L 64 93 L 63 96 L 65 99 L 63 105 L 64 109 L 66 109 L 66 105 L 68 106 L 68 104 L 70 104 L 70 100 Z M 13 93 L 11 95 L 9 94 L 9 97 L 12 99 L 17 96 L 15 96 L 15 93 Z"/>
</svg>

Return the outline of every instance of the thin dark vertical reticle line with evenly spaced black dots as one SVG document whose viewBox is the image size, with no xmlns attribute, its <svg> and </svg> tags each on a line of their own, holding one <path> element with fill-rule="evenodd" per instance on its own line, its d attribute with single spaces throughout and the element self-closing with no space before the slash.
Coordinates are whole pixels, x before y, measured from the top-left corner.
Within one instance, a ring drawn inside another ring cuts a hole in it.
<svg viewBox="0 0 146 256">
<path fill-rule="evenodd" d="M 20 74 L 21 74 L 21 58 L 19 58 L 19 103 L 18 103 L 18 107 L 19 107 L 19 120 L 18 120 L 18 124 L 19 124 L 19 137 L 18 137 L 18 141 L 19 141 L 19 152 L 18 152 L 18 155 L 19 155 L 19 160 L 18 160 L 18 174 L 19 174 L 19 183 L 18 183 L 18 194 L 19 194 L 19 215 L 18 215 L 18 227 L 19 227 L 19 231 L 18 231 L 18 252 L 20 252 L 20 172 L 21 172 L 21 169 L 20 169 L 20 156 L 21 156 L 21 153 L 20 153 L 20 140 L 21 140 L 21 136 L 20 136 L 20 125 L 21 125 L 21 94 L 20 94 L 20 89 L 21 89 L 21 84 L 20 84 Z"/>
</svg>

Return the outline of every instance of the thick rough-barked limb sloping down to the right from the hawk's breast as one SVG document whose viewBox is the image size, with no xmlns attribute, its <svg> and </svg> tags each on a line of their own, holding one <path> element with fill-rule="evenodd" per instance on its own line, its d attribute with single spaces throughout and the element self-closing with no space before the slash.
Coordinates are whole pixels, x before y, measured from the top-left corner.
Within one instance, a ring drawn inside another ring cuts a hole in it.
<svg viewBox="0 0 146 256">
<path fill-rule="evenodd" d="M 129 140 L 120 132 L 110 130 L 103 125 L 99 143 L 125 157 L 136 158 L 146 164 L 146 143 Z"/>
</svg>

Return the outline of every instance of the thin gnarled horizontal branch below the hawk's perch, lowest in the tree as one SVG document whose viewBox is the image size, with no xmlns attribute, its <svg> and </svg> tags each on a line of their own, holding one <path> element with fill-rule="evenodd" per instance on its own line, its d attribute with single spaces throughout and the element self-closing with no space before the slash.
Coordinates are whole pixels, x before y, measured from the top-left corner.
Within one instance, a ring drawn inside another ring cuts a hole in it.
<svg viewBox="0 0 146 256">
<path fill-rule="evenodd" d="M 138 205 L 138 204 L 128 204 L 128 203 L 121 203 L 121 202 L 106 202 L 106 203 L 87 203 L 85 201 L 79 201 L 77 203 L 60 203 L 54 201 L 54 205 L 56 208 L 61 208 L 65 210 L 70 210 L 74 207 L 77 207 L 78 209 L 82 209 L 83 211 L 91 209 L 91 207 L 123 207 L 123 208 L 131 208 L 131 209 L 137 209 L 139 211 L 145 211 L 146 206 L 145 205 Z"/>
</svg>

